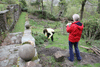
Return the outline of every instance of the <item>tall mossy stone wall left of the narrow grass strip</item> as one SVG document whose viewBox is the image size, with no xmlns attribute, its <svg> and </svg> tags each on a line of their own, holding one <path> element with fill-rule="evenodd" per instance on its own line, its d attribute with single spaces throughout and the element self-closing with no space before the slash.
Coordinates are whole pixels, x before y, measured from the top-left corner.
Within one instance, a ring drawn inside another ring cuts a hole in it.
<svg viewBox="0 0 100 67">
<path fill-rule="evenodd" d="M 2 32 L 12 31 L 21 13 L 21 7 L 17 4 L 8 5 L 7 10 L 0 11 L 0 35 Z"/>
</svg>

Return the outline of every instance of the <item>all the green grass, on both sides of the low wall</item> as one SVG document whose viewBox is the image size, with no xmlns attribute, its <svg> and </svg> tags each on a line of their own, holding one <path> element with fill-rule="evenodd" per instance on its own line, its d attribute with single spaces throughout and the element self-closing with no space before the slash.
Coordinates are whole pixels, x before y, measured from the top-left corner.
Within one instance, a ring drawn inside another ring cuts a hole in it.
<svg viewBox="0 0 100 67">
<path fill-rule="evenodd" d="M 19 18 L 19 20 L 18 20 L 13 32 L 23 32 L 24 31 L 25 16 L 26 16 L 26 13 L 23 12 L 21 14 L 21 16 L 20 16 L 20 18 Z M 30 25 L 32 26 L 31 29 L 32 29 L 33 33 L 43 34 L 43 29 L 44 29 L 45 25 L 48 25 L 51 28 L 55 28 L 56 27 L 55 34 L 54 34 L 54 42 L 52 42 L 49 39 L 48 40 L 49 44 L 47 46 L 45 46 L 45 48 L 59 47 L 61 49 L 69 49 L 68 35 L 67 34 L 62 35 L 61 22 L 53 22 L 53 23 L 52 22 L 48 22 L 47 23 L 47 22 L 44 22 L 44 21 L 35 22 L 32 19 L 29 19 L 29 21 L 30 21 Z M 95 42 L 95 45 L 98 45 L 100 43 L 98 40 L 95 40 L 94 42 Z M 84 39 L 80 39 L 79 46 L 81 46 L 81 45 L 85 46 L 85 47 L 91 47 L 89 45 L 86 45 Z M 41 44 L 41 46 L 42 46 L 42 44 Z M 79 50 L 81 52 L 87 52 L 86 49 L 83 49 L 83 48 L 80 48 L 80 47 L 79 47 Z M 54 59 L 51 59 L 51 60 L 49 60 L 49 62 L 55 62 L 55 61 L 54 61 Z M 76 67 L 100 67 L 100 64 L 99 63 L 95 63 L 93 65 L 91 65 L 91 64 L 79 65 L 78 61 L 75 60 L 74 66 L 76 66 Z"/>
</svg>

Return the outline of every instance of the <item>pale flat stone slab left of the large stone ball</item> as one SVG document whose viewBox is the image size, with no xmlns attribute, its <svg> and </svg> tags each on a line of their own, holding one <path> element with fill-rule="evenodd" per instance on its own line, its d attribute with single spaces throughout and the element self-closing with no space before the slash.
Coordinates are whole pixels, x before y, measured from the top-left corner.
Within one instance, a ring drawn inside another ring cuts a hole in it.
<svg viewBox="0 0 100 67">
<path fill-rule="evenodd" d="M 17 64 L 18 44 L 0 46 L 0 67 L 13 67 Z"/>
</svg>

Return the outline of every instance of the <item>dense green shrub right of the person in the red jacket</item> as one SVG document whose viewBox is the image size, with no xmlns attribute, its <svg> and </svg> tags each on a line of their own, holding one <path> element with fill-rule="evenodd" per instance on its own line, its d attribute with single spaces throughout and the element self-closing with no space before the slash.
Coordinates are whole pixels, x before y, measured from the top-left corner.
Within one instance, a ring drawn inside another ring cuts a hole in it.
<svg viewBox="0 0 100 67">
<path fill-rule="evenodd" d="M 95 17 L 91 17 L 90 20 L 85 20 L 84 29 L 82 33 L 82 38 L 88 38 L 88 39 L 100 39 L 100 25 L 97 22 L 98 19 Z"/>
</svg>

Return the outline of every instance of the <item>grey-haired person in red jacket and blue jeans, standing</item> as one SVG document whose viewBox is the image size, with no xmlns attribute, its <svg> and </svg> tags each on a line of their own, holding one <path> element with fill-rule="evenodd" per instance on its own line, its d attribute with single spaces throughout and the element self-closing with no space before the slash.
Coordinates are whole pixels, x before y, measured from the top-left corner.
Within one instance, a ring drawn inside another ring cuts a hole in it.
<svg viewBox="0 0 100 67">
<path fill-rule="evenodd" d="M 74 61 L 74 54 L 73 54 L 73 45 L 75 48 L 75 53 L 76 53 L 76 57 L 77 60 L 81 60 L 81 56 L 80 56 L 80 52 L 78 49 L 78 42 L 81 38 L 81 34 L 83 31 L 83 24 L 79 21 L 79 15 L 78 14 L 74 14 L 73 16 L 73 20 L 74 22 L 68 23 L 66 25 L 66 31 L 69 33 L 69 54 L 70 56 L 68 57 L 68 59 L 70 61 Z"/>
</svg>

